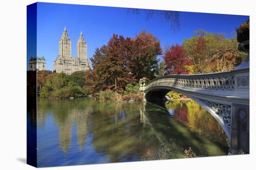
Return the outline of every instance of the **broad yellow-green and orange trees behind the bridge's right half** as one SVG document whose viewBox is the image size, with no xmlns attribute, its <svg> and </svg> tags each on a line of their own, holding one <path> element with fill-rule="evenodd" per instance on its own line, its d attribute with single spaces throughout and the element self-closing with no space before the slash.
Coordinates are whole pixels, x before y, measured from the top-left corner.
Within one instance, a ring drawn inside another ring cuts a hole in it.
<svg viewBox="0 0 256 170">
<path fill-rule="evenodd" d="M 190 65 L 190 74 L 221 72 L 234 69 L 245 54 L 238 51 L 236 37 L 225 38 L 223 33 L 195 31 L 195 36 L 182 43 Z"/>
</svg>

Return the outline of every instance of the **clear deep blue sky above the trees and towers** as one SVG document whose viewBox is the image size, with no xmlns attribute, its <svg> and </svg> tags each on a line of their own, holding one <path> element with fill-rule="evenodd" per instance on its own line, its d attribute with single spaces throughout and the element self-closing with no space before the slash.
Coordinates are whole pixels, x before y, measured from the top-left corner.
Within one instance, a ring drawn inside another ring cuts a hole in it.
<svg viewBox="0 0 256 170">
<path fill-rule="evenodd" d="M 135 37 L 142 30 L 150 32 L 161 41 L 162 49 L 172 44 L 182 44 L 194 36 L 194 31 L 223 32 L 227 38 L 234 35 L 236 27 L 249 16 L 180 12 L 180 30 L 173 31 L 170 21 L 154 16 L 147 20 L 143 11 L 139 15 L 128 13 L 127 8 L 38 3 L 37 5 L 37 56 L 47 60 L 47 70 L 59 54 L 59 40 L 64 26 L 72 42 L 72 56 L 76 56 L 76 43 L 83 32 L 88 44 L 88 59 L 97 47 L 107 44 L 113 33 Z M 28 58 L 31 53 L 27 52 Z M 162 57 L 159 57 L 162 59 Z"/>
</svg>

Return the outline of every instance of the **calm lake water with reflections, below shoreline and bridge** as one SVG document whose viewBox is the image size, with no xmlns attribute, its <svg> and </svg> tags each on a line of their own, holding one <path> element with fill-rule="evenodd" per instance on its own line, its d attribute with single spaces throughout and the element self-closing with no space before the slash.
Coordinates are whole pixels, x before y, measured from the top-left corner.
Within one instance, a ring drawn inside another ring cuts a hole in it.
<svg viewBox="0 0 256 170">
<path fill-rule="evenodd" d="M 38 98 L 38 167 L 184 158 L 189 147 L 197 157 L 227 155 L 225 132 L 195 101 L 165 107 Z"/>
</svg>

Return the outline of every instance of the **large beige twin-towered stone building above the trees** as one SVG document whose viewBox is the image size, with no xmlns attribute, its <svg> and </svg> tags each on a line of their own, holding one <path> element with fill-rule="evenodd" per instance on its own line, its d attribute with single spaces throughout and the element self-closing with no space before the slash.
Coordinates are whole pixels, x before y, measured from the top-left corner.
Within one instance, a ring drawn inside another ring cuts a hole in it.
<svg viewBox="0 0 256 170">
<path fill-rule="evenodd" d="M 87 59 L 87 44 L 82 32 L 77 41 L 77 57 L 71 56 L 71 40 L 67 35 L 65 27 L 59 42 L 59 56 L 54 61 L 54 71 L 56 73 L 72 74 L 75 71 L 86 71 L 90 68 Z"/>
</svg>

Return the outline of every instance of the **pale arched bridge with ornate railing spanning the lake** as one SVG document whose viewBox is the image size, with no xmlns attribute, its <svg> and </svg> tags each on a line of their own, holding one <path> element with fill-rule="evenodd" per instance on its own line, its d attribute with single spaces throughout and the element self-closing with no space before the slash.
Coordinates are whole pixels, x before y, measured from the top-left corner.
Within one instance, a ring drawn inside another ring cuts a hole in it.
<svg viewBox="0 0 256 170">
<path fill-rule="evenodd" d="M 239 67 L 239 66 L 238 66 Z M 249 153 L 249 67 L 232 71 L 160 76 L 141 81 L 145 101 L 165 101 L 175 90 L 204 107 L 222 126 L 230 153 Z"/>
</svg>

